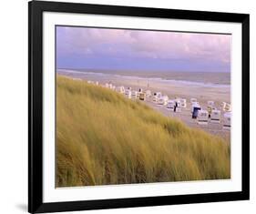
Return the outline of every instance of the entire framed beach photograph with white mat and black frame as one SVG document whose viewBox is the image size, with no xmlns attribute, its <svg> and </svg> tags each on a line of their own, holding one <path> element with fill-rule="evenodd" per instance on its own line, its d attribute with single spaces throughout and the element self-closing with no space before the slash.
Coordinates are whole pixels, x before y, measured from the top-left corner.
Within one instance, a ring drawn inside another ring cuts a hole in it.
<svg viewBox="0 0 256 214">
<path fill-rule="evenodd" d="M 249 15 L 28 6 L 29 212 L 249 199 Z"/>
</svg>

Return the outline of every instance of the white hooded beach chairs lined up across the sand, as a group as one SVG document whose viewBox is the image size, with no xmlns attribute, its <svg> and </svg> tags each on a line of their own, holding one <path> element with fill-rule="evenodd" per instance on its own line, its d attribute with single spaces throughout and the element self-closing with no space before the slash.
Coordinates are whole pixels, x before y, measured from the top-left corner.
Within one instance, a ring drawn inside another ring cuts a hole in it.
<svg viewBox="0 0 256 214">
<path fill-rule="evenodd" d="M 89 84 L 99 85 L 98 82 L 87 81 Z M 161 92 L 152 93 L 150 90 L 132 90 L 131 87 L 116 87 L 111 83 L 106 83 L 103 87 L 108 87 L 112 90 L 123 94 L 129 99 L 149 100 L 153 101 L 159 106 L 165 106 L 173 112 L 180 113 L 182 108 L 187 107 L 187 99 L 176 97 L 175 99 L 169 99 L 168 96 L 163 95 Z M 230 129 L 230 116 L 231 106 L 226 102 L 222 102 L 220 107 L 215 107 L 214 101 L 208 101 L 207 109 L 200 107 L 200 103 L 197 98 L 190 98 L 191 117 L 197 119 L 199 125 L 208 125 L 208 123 L 220 123 L 223 124 L 223 129 Z M 221 118 L 221 113 L 223 117 Z"/>
</svg>

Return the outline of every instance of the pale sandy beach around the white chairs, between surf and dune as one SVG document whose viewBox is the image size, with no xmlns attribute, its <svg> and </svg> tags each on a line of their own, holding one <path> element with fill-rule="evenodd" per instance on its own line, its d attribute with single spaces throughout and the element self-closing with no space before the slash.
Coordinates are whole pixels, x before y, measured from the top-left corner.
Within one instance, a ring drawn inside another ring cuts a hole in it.
<svg viewBox="0 0 256 214">
<path fill-rule="evenodd" d="M 77 71 L 70 71 L 64 69 L 58 69 L 57 73 L 62 76 L 70 76 L 73 78 L 79 78 L 84 80 L 98 81 L 99 84 L 104 85 L 111 83 L 114 86 L 132 87 L 134 90 L 143 88 L 149 89 L 151 92 L 161 92 L 163 95 L 167 95 L 169 99 L 175 97 L 182 97 L 187 99 L 187 107 L 182 107 L 180 113 L 170 111 L 165 106 L 160 106 L 154 103 L 152 100 L 142 101 L 149 107 L 159 111 L 166 117 L 179 118 L 182 122 L 189 127 L 197 127 L 203 129 L 210 134 L 218 135 L 221 138 L 230 140 L 230 130 L 223 129 L 222 118 L 223 111 L 221 111 L 220 123 L 211 123 L 209 120 L 208 125 L 199 125 L 197 119 L 191 118 L 189 100 L 191 97 L 197 98 L 200 102 L 200 106 L 203 109 L 207 109 L 207 102 L 209 100 L 214 101 L 215 107 L 220 107 L 221 102 L 230 103 L 230 87 L 228 86 L 212 86 L 210 84 L 200 83 L 187 83 L 185 81 L 171 81 L 158 78 L 142 78 L 138 76 L 117 76 L 117 75 L 99 75 L 94 73 L 83 73 Z"/>
</svg>

